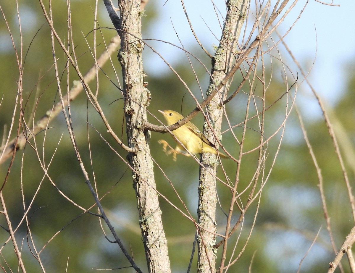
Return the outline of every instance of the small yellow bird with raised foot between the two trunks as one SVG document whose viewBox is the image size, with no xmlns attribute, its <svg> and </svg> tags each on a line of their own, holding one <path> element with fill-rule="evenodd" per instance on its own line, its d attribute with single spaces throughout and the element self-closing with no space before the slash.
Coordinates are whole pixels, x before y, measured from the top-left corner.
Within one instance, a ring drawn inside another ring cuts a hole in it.
<svg viewBox="0 0 355 273">
<path fill-rule="evenodd" d="M 166 122 L 168 125 L 172 125 L 176 123 L 178 120 L 184 118 L 178 112 L 173 110 L 158 110 L 160 113 L 163 114 Z M 191 122 L 187 122 L 186 124 L 182 125 L 178 129 L 172 131 L 174 135 L 174 140 L 178 145 L 175 149 L 171 148 L 170 153 L 174 153 L 174 160 L 176 160 L 176 154 L 184 154 L 186 156 L 190 156 L 189 151 L 191 154 L 200 154 L 200 153 L 212 153 L 217 154 L 215 146 L 211 143 L 204 135 L 202 135 L 201 131 L 197 129 L 197 127 Z M 177 141 L 179 140 L 183 145 Z M 166 151 L 166 146 L 169 144 L 165 140 L 160 140 L 159 143 L 163 144 L 163 149 Z M 225 154 L 218 152 L 220 157 L 228 158 Z"/>
</svg>

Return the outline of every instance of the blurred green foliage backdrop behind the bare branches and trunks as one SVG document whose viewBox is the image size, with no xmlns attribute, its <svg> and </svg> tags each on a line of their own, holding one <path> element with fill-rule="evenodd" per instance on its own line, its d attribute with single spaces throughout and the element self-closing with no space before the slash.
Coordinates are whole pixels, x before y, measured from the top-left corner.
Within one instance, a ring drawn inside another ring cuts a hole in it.
<svg viewBox="0 0 355 273">
<path fill-rule="evenodd" d="M 23 34 L 23 54 L 25 56 L 23 95 L 26 104 L 23 105 L 23 108 L 25 120 L 27 124 L 31 125 L 33 124 L 33 120 L 38 120 L 50 109 L 54 102 L 58 102 L 59 96 L 54 77 L 50 30 L 45 23 L 43 13 L 37 1 L 19 1 L 19 4 Z M 53 1 L 52 4 L 54 24 L 62 39 L 65 40 L 67 37 L 66 3 L 65 1 Z M 94 9 L 93 4 L 93 2 L 87 1 L 71 2 L 75 54 L 78 57 L 79 67 L 83 72 L 86 72 L 93 64 L 92 55 L 85 41 L 86 38 L 88 44 L 90 46 L 93 45 L 93 34 L 91 32 L 94 18 L 92 11 Z M 99 5 L 102 5 L 102 3 L 99 3 Z M 153 1 L 149 2 L 146 8 L 147 16 L 143 19 L 144 37 L 149 37 L 154 32 L 154 29 L 150 28 L 151 23 L 157 16 L 157 13 L 155 13 L 157 9 L 154 5 L 156 4 Z M 7 22 L 9 22 L 17 52 L 19 53 L 20 40 L 16 7 L 11 1 L 8 1 L 5 4 L 1 3 L 1 8 L 4 11 Z M 100 27 L 111 27 L 111 23 L 103 7 L 100 7 L 98 23 Z M 115 30 L 102 29 L 102 35 L 106 43 L 115 34 Z M 9 126 L 11 121 L 17 90 L 16 79 L 18 78 L 18 69 L 4 20 L 0 24 L 0 36 L 5 37 L 4 43 L 0 47 L 2 64 L 0 66 L 0 75 L 2 75 L 0 90 L 3 93 L 1 94 L 0 130 L 3 132 L 9 129 L 9 127 L 4 126 Z M 104 50 L 103 38 L 99 35 L 97 44 L 97 52 L 99 54 Z M 190 50 L 199 56 L 209 68 L 209 60 L 206 59 L 198 48 Z M 146 47 L 144 54 L 146 58 L 149 58 L 149 55 L 153 54 L 153 52 Z M 182 79 L 193 90 L 196 97 L 201 99 L 201 92 L 192 70 L 184 57 L 184 53 L 176 50 L 174 54 L 181 54 L 181 58 L 179 58 L 181 61 L 174 64 L 174 69 L 178 71 Z M 63 69 L 66 60 L 65 56 L 58 51 L 56 58 L 58 58 L 59 67 Z M 115 56 L 113 56 L 113 64 L 118 75 L 120 75 L 120 65 Z M 180 111 L 181 107 L 182 113 L 187 114 L 195 107 L 189 95 L 184 97 L 186 93 L 184 86 L 168 68 L 166 68 L 167 72 L 164 75 L 159 76 L 154 73 L 154 64 L 144 63 L 144 66 L 145 72 L 148 74 L 146 79 L 149 83 L 148 88 L 152 93 L 152 101 L 148 110 L 153 115 L 157 115 L 160 118 L 157 109 Z M 348 71 L 353 71 L 354 67 L 350 62 L 349 66 Z M 114 71 L 109 64 L 102 67 L 102 70 L 114 83 L 118 84 L 117 80 L 115 80 Z M 277 68 L 274 68 L 274 71 L 276 70 Z M 201 66 L 198 67 L 196 72 L 201 80 L 202 91 L 204 93 L 208 84 L 208 75 Z M 240 76 L 236 75 L 235 77 Z M 121 92 L 106 78 L 102 71 L 99 72 L 99 78 L 99 101 L 104 108 L 111 126 L 117 135 L 122 135 L 125 140 L 125 128 L 122 126 L 124 120 L 122 116 L 123 100 L 121 99 Z M 74 80 L 78 80 L 78 77 L 74 71 L 71 71 L 69 84 L 72 84 Z M 63 86 L 65 86 L 65 81 L 66 78 L 64 76 L 62 78 Z M 240 80 L 235 79 L 235 82 L 239 83 Z M 345 129 L 347 136 L 354 136 L 355 129 L 353 122 L 355 118 L 353 108 L 355 98 L 354 92 L 351 92 L 353 91 L 354 84 L 355 77 L 352 73 L 349 73 L 348 85 L 342 97 L 339 98 L 339 101 L 333 108 L 333 115 L 331 116 L 334 122 L 337 122 L 339 126 Z M 91 83 L 91 87 L 95 90 L 95 83 Z M 271 104 L 278 95 L 282 94 L 284 88 L 282 82 L 273 80 L 272 87 L 269 90 L 274 90 L 274 93 L 268 93 L 267 104 Z M 247 86 L 245 89 L 247 90 Z M 256 92 L 260 92 L 260 90 L 256 90 Z M 182 99 L 183 97 L 184 100 Z M 244 120 L 246 98 L 247 95 L 241 92 L 234 101 L 227 105 L 227 113 L 230 117 L 233 117 L 235 124 Z M 273 132 L 279 124 L 277 121 L 282 120 L 282 114 L 284 113 L 283 102 L 275 104 L 274 107 L 267 111 L 267 131 L 265 135 Z M 34 107 L 36 107 L 36 111 L 33 117 Z M 323 120 L 308 118 L 307 112 L 302 113 L 302 115 L 306 117 L 304 122 L 308 130 L 308 137 L 323 172 L 329 214 L 332 220 L 337 247 L 339 247 L 345 235 L 348 234 L 353 226 L 349 198 L 345 191 L 342 172 Z M 131 170 L 105 144 L 93 127 L 103 135 L 105 140 L 124 159 L 126 152 L 108 135 L 102 121 L 91 107 L 84 93 L 71 102 L 71 116 L 79 151 L 82 154 L 86 169 L 89 171 L 89 174 L 91 173 L 91 168 L 95 172 L 95 177 L 92 175 L 90 177 L 91 181 L 96 182 L 100 196 L 109 191 L 109 194 L 103 198 L 102 204 L 108 211 L 108 216 L 112 219 L 116 231 L 125 246 L 127 249 L 131 249 L 132 256 L 138 266 L 145 270 L 146 262 L 138 226 L 139 219 L 136 209 L 135 192 L 132 188 Z M 15 120 L 17 120 L 17 117 L 18 110 Z M 158 124 L 158 121 L 152 116 L 149 117 L 149 120 Z M 17 122 L 15 121 L 15 127 L 18 125 Z M 194 119 L 193 122 L 202 128 L 202 115 Z M 253 124 L 252 121 L 250 124 L 257 128 L 256 122 Z M 224 129 L 228 128 L 225 124 L 223 126 Z M 59 115 L 53 124 L 50 124 L 50 127 L 46 133 L 41 132 L 35 138 L 40 151 L 39 157 L 43 159 L 43 142 L 44 160 L 47 164 L 50 162 L 56 148 L 58 148 L 51 162 L 49 175 L 65 195 L 81 206 L 88 208 L 93 205 L 94 201 L 85 184 L 75 153 L 73 152 L 63 115 Z M 239 137 L 241 130 L 242 127 L 236 127 L 234 133 Z M 89 142 L 87 135 L 89 135 Z M 339 137 L 342 140 L 344 136 Z M 15 137 L 15 134 L 11 137 Z M 252 148 L 255 140 L 258 138 L 259 135 L 257 132 L 253 130 L 248 131 L 246 147 Z M 182 156 L 178 157 L 177 162 L 174 162 L 171 157 L 166 156 L 162 151 L 162 147 L 157 142 L 159 139 L 165 139 L 170 144 L 173 144 L 168 134 L 160 135 L 159 133 L 152 132 L 152 157 L 171 180 L 186 206 L 196 216 L 198 165 L 195 164 L 193 159 L 182 158 Z M 349 141 L 351 147 L 353 147 L 354 138 L 350 138 Z M 31 143 L 34 145 L 33 140 Z M 236 156 L 239 152 L 239 148 L 233 142 L 231 133 L 226 132 L 223 135 L 223 144 L 231 154 Z M 273 153 L 275 152 L 275 145 L 273 142 L 269 144 L 269 151 L 271 151 L 269 154 L 270 158 L 273 157 Z M 345 156 L 351 153 L 351 147 L 342 147 Z M 89 157 L 89 149 L 91 149 L 92 158 Z M 245 157 L 244 164 L 242 165 L 241 187 L 246 186 L 252 178 L 255 171 L 256 156 L 257 153 L 252 153 Z M 351 154 L 349 158 L 351 158 Z M 5 178 L 9 164 L 10 161 L 8 160 L 0 166 L 0 177 L 3 179 Z M 159 171 L 157 165 L 154 168 L 158 190 L 164 196 L 168 197 L 171 202 L 183 209 L 169 182 L 164 178 L 162 172 Z M 351 162 L 347 163 L 347 168 L 351 174 L 351 181 L 354 180 L 353 166 Z M 224 168 L 227 174 L 233 178 L 235 175 L 235 164 L 231 160 L 226 161 L 224 162 Z M 67 272 L 93 272 L 91 268 L 129 266 L 118 246 L 110 244 L 105 240 L 103 233 L 100 231 L 97 217 L 89 214 L 82 215 L 80 209 L 65 200 L 50 184 L 49 180 L 43 177 L 43 170 L 40 168 L 37 155 L 33 148 L 27 145 L 23 151 L 18 151 L 16 154 L 10 176 L 4 188 L 4 196 L 7 209 L 11 215 L 11 221 L 16 225 L 23 215 L 21 187 L 23 187 L 24 191 L 24 202 L 28 206 L 32 201 L 32 196 L 37 186 L 42 183 L 40 191 L 33 201 L 32 209 L 28 214 L 31 216 L 30 228 L 37 250 L 57 231 L 65 227 L 46 246 L 42 253 L 41 257 L 47 272 L 65 272 L 66 267 L 68 268 Z M 286 125 L 286 136 L 278 155 L 277 163 L 262 194 L 255 229 L 246 247 L 246 251 L 234 267 L 235 270 L 238 270 L 238 272 L 247 272 L 252 260 L 253 272 L 295 272 L 301 258 L 305 255 L 320 227 L 322 227 L 320 236 L 306 257 L 302 266 L 302 272 L 325 272 L 327 270 L 328 262 L 332 260 L 334 255 L 329 244 L 329 235 L 326 230 L 317 184 L 318 180 L 314 165 L 303 140 L 298 118 L 293 113 Z M 224 189 L 222 185 L 218 185 L 218 188 L 219 200 L 222 207 L 226 209 L 228 208 L 229 191 Z M 242 201 L 245 202 L 245 198 L 243 196 Z M 165 232 L 168 238 L 172 271 L 186 272 L 195 236 L 195 227 L 163 199 L 160 201 Z M 255 209 L 254 205 L 250 208 L 249 215 L 246 215 L 237 251 L 240 251 L 246 240 L 247 230 L 250 228 L 253 220 L 252 212 L 255 212 Z M 92 209 L 92 211 L 95 212 L 95 209 Z M 238 216 L 236 215 L 236 218 Z M 75 220 L 72 221 L 73 219 Z M 220 223 L 220 226 L 218 226 L 218 231 L 221 233 L 224 232 L 223 221 L 223 216 L 219 216 L 218 223 Z M 0 224 L 6 226 L 2 216 L 0 216 Z M 107 229 L 105 230 L 107 231 Z M 5 230 L 0 230 L 0 245 L 5 243 L 8 236 Z M 23 252 L 26 257 L 25 264 L 28 272 L 39 272 L 40 268 L 38 264 L 28 251 L 26 236 L 27 230 L 22 224 L 20 230 L 17 231 L 17 240 L 20 242 L 22 237 L 24 238 Z M 109 237 L 111 238 L 111 236 Z M 6 267 L 6 261 L 13 270 L 16 270 L 17 261 L 13 255 L 11 242 L 4 247 L 2 256 L 0 264 Z M 193 263 L 193 272 L 195 271 L 196 262 Z M 133 269 L 123 269 L 121 272 L 133 272 Z"/>
</svg>

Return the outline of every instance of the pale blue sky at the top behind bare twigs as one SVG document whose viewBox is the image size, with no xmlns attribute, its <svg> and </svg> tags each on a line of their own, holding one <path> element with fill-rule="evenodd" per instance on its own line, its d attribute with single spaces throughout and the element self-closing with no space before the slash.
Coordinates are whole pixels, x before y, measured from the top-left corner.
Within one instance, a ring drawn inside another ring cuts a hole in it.
<svg viewBox="0 0 355 273">
<path fill-rule="evenodd" d="M 154 7 L 158 9 L 159 15 L 155 19 L 154 32 L 149 33 L 149 38 L 161 39 L 179 45 L 179 40 L 174 31 L 175 28 L 186 49 L 196 46 L 196 41 L 189 30 L 182 10 L 181 2 L 169 0 L 164 5 L 165 2 L 166 0 L 159 0 L 154 4 Z M 224 1 L 218 2 L 220 12 L 224 15 Z M 280 26 L 280 32 L 287 31 L 305 3 L 306 1 L 297 3 L 293 12 L 288 15 L 285 22 Z M 149 4 L 146 9 L 152 7 L 152 3 Z M 352 12 L 355 10 L 355 1 L 338 0 L 334 1 L 333 4 L 340 4 L 340 7 L 323 5 L 310 0 L 301 18 L 285 39 L 305 70 L 310 68 L 317 50 L 317 58 L 310 73 L 310 79 L 316 91 L 329 104 L 336 102 L 339 94 L 343 92 L 346 73 L 348 73 L 345 71 L 345 65 L 355 59 L 354 29 L 350 23 L 350 18 L 353 16 Z M 212 44 L 218 44 L 218 40 L 213 37 L 209 28 L 218 38 L 221 31 L 212 2 L 202 0 L 186 1 L 185 5 L 197 36 L 204 46 L 213 53 Z M 220 19 L 223 18 L 221 15 L 219 17 Z M 316 45 L 316 42 L 318 45 Z M 154 42 L 152 44 L 169 62 L 174 63 L 174 60 L 176 61 L 181 56 L 177 55 L 174 52 L 176 49 L 170 45 Z M 150 56 L 149 63 L 150 61 L 155 66 L 149 73 L 161 74 L 169 71 L 158 56 Z M 304 87 L 307 90 L 305 85 Z"/>
</svg>

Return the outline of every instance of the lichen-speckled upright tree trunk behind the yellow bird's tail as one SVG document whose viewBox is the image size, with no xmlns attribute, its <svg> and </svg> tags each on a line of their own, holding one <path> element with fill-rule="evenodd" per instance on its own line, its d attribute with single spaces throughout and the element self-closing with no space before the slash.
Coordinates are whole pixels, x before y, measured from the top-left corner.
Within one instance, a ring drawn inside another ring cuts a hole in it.
<svg viewBox="0 0 355 273">
<path fill-rule="evenodd" d="M 220 39 L 219 47 L 214 55 L 212 61 L 212 77 L 210 81 L 207 95 L 215 89 L 215 85 L 226 76 L 235 61 L 235 54 L 233 52 L 239 50 L 237 46 L 237 39 L 239 38 L 242 26 L 246 18 L 246 8 L 248 0 L 227 1 L 227 15 L 223 28 L 222 37 Z M 225 85 L 223 90 L 220 90 L 214 96 L 212 101 L 207 105 L 207 114 L 209 122 L 211 123 L 215 134 L 221 140 L 220 128 L 222 123 L 223 109 L 219 107 L 220 103 L 226 99 L 229 85 Z M 221 100 L 222 98 L 222 100 Z M 213 141 L 213 134 L 209 129 L 207 122 L 203 126 L 203 133 Z M 218 143 L 216 143 L 216 146 Z M 215 258 L 217 249 L 214 249 L 215 235 L 208 231 L 216 232 L 215 223 L 215 207 L 217 202 L 216 179 L 213 175 L 217 175 L 218 161 L 215 155 L 203 154 L 203 167 L 200 167 L 200 182 L 198 187 L 199 203 L 198 203 L 198 223 L 204 227 L 200 229 L 200 236 L 198 239 L 198 272 L 216 272 Z M 206 230 L 205 230 L 206 229 Z M 221 270 L 220 272 L 222 272 Z"/>
</svg>

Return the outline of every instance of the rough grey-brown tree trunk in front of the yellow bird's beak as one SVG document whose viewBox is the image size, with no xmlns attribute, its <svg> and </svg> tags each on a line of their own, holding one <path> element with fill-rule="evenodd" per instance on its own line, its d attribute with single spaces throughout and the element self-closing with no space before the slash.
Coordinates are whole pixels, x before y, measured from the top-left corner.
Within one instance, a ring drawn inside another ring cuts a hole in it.
<svg viewBox="0 0 355 273">
<path fill-rule="evenodd" d="M 150 133 L 141 130 L 147 122 L 146 107 L 151 99 L 143 86 L 140 0 L 120 0 L 121 49 L 118 54 L 122 66 L 125 94 L 125 118 L 129 147 L 137 153 L 128 155 L 133 171 L 143 244 L 149 272 L 169 273 L 170 261 L 162 218 L 155 189 L 153 162 L 148 141 Z M 132 34 L 132 35 L 131 35 Z M 138 38 L 137 38 L 138 37 Z"/>
</svg>

